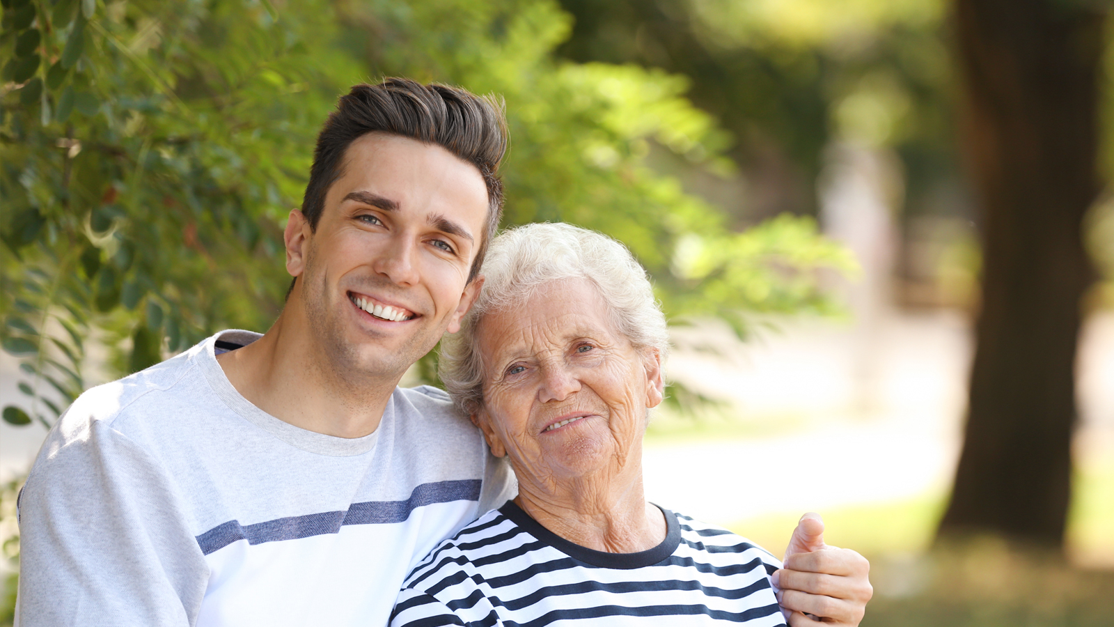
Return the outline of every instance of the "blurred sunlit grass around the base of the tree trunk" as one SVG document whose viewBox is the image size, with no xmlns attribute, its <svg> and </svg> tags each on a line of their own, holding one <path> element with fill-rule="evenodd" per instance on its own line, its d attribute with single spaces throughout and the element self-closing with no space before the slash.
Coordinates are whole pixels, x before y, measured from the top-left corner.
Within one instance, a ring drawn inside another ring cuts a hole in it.
<svg viewBox="0 0 1114 627">
<path fill-rule="evenodd" d="M 862 627 L 1111 627 L 1114 625 L 1114 461 L 1076 474 L 1071 562 L 994 539 L 928 552 L 945 494 L 824 514 L 825 542 L 871 561 L 874 598 Z M 730 525 L 776 556 L 800 512 Z"/>
</svg>

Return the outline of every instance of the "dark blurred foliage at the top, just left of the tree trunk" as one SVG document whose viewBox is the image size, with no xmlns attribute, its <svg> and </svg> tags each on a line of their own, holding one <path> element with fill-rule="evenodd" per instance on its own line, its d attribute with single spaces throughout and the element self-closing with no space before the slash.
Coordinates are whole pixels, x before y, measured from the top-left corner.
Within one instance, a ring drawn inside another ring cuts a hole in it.
<svg viewBox="0 0 1114 627">
<path fill-rule="evenodd" d="M 941 2 L 913 0 L 561 0 L 559 51 L 687 76 L 690 97 L 731 133 L 746 193 L 735 225 L 814 213 L 832 139 L 896 149 L 910 208 L 955 179 Z"/>
</svg>

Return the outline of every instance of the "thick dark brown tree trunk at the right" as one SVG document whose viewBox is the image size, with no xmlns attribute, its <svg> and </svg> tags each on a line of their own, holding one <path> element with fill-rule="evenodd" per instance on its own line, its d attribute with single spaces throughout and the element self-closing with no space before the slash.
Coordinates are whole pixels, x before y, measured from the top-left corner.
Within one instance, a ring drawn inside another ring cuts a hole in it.
<svg viewBox="0 0 1114 627">
<path fill-rule="evenodd" d="M 1097 174 L 1103 20 L 1068 0 L 956 0 L 981 305 L 962 454 L 938 539 L 1061 549 L 1071 496 L 1084 214 Z"/>
</svg>

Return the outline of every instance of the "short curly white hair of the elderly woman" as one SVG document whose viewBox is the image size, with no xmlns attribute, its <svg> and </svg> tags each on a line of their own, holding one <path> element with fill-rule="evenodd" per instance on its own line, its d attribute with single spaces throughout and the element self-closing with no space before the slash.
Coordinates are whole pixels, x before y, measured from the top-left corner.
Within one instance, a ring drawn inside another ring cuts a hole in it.
<svg viewBox="0 0 1114 627">
<path fill-rule="evenodd" d="M 483 316 L 514 308 L 563 279 L 587 279 L 607 305 L 610 321 L 636 349 L 653 348 L 665 360 L 670 347 L 665 315 L 646 271 L 622 243 L 571 224 L 526 224 L 491 241 L 483 289 L 461 320 L 460 331 L 441 339 L 438 374 L 465 415 L 483 404 L 483 360 L 477 329 Z"/>
</svg>

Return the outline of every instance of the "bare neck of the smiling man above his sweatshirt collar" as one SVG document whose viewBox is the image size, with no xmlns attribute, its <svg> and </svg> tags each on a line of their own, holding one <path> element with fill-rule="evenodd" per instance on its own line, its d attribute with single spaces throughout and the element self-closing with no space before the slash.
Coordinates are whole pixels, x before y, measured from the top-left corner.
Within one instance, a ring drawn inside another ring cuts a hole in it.
<svg viewBox="0 0 1114 627">
<path fill-rule="evenodd" d="M 362 437 L 379 428 L 387 402 L 402 377 L 341 373 L 309 334 L 284 320 L 252 344 L 217 356 L 228 382 L 267 414 L 296 427 L 336 437 Z M 359 378 L 359 380 L 354 380 Z"/>
</svg>

